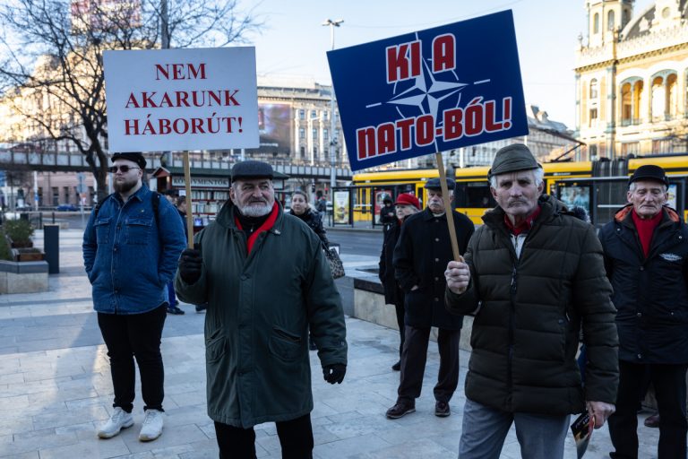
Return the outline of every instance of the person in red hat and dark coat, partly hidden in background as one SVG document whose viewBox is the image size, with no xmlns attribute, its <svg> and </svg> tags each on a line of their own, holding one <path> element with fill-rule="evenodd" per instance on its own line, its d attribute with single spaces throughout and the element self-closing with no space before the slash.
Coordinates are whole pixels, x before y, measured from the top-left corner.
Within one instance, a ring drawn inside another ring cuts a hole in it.
<svg viewBox="0 0 688 459">
<path fill-rule="evenodd" d="M 401 193 L 397 196 L 397 202 L 394 203 L 397 212 L 397 219 L 399 224 L 393 225 L 391 230 L 384 235 L 383 250 L 380 254 L 380 263 L 378 264 L 378 277 L 383 283 L 384 303 L 394 305 L 394 310 L 397 315 L 397 325 L 399 326 L 400 343 L 399 343 L 399 360 L 391 366 L 394 371 L 401 369 L 401 351 L 404 348 L 404 290 L 401 290 L 399 283 L 394 277 L 394 265 L 392 264 L 394 247 L 397 246 L 399 235 L 401 232 L 401 224 L 414 213 L 420 212 L 420 203 L 414 195 Z"/>
</svg>

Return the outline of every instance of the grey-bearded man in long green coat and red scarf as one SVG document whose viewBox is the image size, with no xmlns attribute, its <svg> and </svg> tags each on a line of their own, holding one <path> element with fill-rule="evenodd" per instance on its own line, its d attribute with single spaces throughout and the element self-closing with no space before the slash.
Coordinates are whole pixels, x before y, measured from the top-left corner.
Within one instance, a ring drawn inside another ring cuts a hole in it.
<svg viewBox="0 0 688 459">
<path fill-rule="evenodd" d="M 275 422 L 282 457 L 314 447 L 308 329 L 323 377 L 340 384 L 347 342 L 320 238 L 275 202 L 270 164 L 232 169 L 230 201 L 179 261 L 176 291 L 205 316 L 208 415 L 220 458 L 253 459 L 254 425 Z"/>
</svg>

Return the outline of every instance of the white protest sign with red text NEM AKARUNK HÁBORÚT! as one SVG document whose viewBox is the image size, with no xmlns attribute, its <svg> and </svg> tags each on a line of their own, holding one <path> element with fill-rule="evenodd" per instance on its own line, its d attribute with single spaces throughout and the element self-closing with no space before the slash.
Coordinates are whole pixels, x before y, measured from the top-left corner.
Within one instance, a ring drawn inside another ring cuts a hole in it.
<svg viewBox="0 0 688 459">
<path fill-rule="evenodd" d="M 111 152 L 255 148 L 255 48 L 105 51 Z"/>
</svg>

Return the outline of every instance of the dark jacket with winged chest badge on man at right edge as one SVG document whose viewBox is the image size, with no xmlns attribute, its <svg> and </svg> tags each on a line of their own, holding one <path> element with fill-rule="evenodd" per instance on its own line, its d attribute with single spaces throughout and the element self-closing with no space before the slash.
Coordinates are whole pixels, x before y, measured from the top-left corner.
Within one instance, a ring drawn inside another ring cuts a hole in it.
<svg viewBox="0 0 688 459">
<path fill-rule="evenodd" d="M 688 363 L 688 227 L 665 207 L 646 258 L 631 211 L 625 206 L 599 232 L 618 310 L 619 359 Z"/>
</svg>

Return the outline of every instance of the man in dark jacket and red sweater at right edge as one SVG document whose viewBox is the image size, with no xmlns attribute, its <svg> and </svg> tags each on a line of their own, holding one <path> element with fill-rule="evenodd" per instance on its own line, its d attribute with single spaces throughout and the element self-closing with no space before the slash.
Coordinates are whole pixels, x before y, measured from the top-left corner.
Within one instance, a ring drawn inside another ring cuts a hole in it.
<svg viewBox="0 0 688 459">
<path fill-rule="evenodd" d="M 659 409 L 658 458 L 685 458 L 688 366 L 688 227 L 667 207 L 664 169 L 641 166 L 628 203 L 599 238 L 618 313 L 619 396 L 609 418 L 615 459 L 638 457 L 638 398 L 649 366 Z"/>
</svg>

